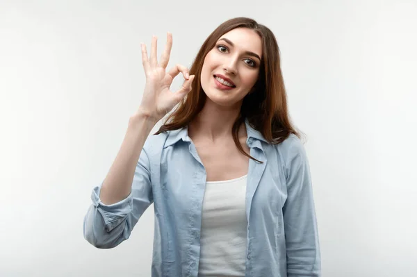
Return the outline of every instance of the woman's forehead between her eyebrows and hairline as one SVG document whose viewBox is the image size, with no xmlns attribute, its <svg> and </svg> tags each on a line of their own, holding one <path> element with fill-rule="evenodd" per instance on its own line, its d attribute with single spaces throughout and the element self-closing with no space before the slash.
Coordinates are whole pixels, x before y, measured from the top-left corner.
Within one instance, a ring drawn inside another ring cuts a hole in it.
<svg viewBox="0 0 417 277">
<path fill-rule="evenodd" d="M 235 28 L 220 38 L 227 38 L 233 42 L 236 49 L 241 51 L 252 51 L 262 57 L 262 41 L 261 37 L 250 28 Z"/>
</svg>

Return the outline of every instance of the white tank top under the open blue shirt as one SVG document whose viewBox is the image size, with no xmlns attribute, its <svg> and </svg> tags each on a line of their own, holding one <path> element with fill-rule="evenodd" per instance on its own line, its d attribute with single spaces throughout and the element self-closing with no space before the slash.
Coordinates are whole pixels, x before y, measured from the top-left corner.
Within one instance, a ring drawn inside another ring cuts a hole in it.
<svg viewBox="0 0 417 277">
<path fill-rule="evenodd" d="M 206 182 L 198 276 L 245 276 L 246 183 L 247 175 Z"/>
</svg>

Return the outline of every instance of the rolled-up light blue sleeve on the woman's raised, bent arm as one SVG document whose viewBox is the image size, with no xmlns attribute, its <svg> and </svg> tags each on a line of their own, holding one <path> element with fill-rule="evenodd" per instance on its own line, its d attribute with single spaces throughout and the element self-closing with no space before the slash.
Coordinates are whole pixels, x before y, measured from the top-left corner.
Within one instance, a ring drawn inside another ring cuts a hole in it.
<svg viewBox="0 0 417 277">
<path fill-rule="evenodd" d="M 149 158 L 145 147 L 136 165 L 131 193 L 111 205 L 101 202 L 101 185 L 93 188 L 92 204 L 83 221 L 85 240 L 97 248 L 109 249 L 127 240 L 143 212 L 153 202 Z"/>
</svg>

